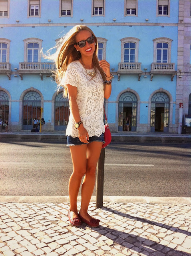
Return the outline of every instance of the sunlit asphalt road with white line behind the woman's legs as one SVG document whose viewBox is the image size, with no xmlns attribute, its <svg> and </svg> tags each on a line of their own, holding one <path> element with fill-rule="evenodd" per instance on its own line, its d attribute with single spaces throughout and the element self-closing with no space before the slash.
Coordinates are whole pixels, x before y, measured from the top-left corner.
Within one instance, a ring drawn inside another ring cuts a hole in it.
<svg viewBox="0 0 191 256">
<path fill-rule="evenodd" d="M 72 161 L 65 144 L 0 145 L 1 196 L 68 195 Z M 190 157 L 191 144 L 112 143 L 105 149 L 103 194 L 190 197 Z"/>
</svg>

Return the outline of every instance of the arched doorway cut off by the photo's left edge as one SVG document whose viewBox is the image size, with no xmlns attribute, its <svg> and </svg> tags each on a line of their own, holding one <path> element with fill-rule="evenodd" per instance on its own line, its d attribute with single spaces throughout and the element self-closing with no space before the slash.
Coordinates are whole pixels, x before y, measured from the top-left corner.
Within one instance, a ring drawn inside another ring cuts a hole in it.
<svg viewBox="0 0 191 256">
<path fill-rule="evenodd" d="M 0 91 L 0 121 L 9 118 L 9 96 L 6 92 Z"/>
</svg>

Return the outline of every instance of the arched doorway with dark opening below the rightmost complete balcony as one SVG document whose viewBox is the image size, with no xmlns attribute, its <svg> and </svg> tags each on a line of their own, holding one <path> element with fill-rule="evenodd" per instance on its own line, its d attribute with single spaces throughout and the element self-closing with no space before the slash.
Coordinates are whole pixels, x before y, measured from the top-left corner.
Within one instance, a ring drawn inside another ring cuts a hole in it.
<svg viewBox="0 0 191 256">
<path fill-rule="evenodd" d="M 151 132 L 168 132 L 169 104 L 165 92 L 157 92 L 151 98 Z"/>
</svg>

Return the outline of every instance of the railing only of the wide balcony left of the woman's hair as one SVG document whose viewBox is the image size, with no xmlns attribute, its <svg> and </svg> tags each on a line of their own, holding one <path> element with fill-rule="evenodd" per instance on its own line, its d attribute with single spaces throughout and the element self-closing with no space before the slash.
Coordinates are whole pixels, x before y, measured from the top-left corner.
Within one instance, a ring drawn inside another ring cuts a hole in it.
<svg viewBox="0 0 191 256">
<path fill-rule="evenodd" d="M 56 70 L 56 65 L 52 62 L 20 62 L 19 70 Z"/>
</svg>

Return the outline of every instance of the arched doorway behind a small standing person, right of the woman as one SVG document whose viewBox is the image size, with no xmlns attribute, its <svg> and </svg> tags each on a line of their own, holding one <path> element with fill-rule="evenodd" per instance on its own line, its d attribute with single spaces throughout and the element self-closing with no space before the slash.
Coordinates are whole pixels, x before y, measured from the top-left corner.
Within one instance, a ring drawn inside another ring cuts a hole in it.
<svg viewBox="0 0 191 256">
<path fill-rule="evenodd" d="M 129 131 L 137 130 L 137 97 L 133 92 L 124 92 L 119 97 L 118 130 L 124 131 L 123 120 L 128 117 L 130 121 Z"/>
</svg>

